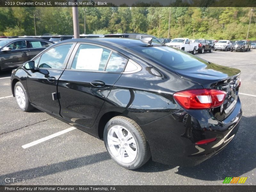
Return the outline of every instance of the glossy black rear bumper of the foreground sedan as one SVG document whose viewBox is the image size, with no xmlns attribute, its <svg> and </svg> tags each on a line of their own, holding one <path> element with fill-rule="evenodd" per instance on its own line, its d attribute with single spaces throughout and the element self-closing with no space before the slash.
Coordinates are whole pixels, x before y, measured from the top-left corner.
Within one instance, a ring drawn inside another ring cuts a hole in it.
<svg viewBox="0 0 256 192">
<path fill-rule="evenodd" d="M 172 165 L 194 166 L 220 152 L 234 138 L 242 116 L 238 98 L 233 112 L 222 122 L 211 110 L 180 110 L 154 122 L 142 125 L 152 160 Z M 204 139 L 215 141 L 195 145 Z"/>
</svg>

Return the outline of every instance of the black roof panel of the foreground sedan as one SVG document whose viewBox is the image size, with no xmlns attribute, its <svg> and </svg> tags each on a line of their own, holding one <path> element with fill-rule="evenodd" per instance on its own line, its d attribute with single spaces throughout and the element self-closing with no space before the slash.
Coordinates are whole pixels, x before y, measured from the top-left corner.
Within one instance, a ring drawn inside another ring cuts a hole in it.
<svg viewBox="0 0 256 192">
<path fill-rule="evenodd" d="M 96 42 L 108 42 L 110 44 L 122 45 L 124 47 L 135 47 L 135 46 L 145 46 L 146 44 L 140 41 L 139 39 L 131 39 L 131 38 L 79 38 L 79 39 L 69 39 L 65 41 L 61 41 L 60 43 L 66 42 L 84 42 L 84 43 L 96 43 Z M 152 43 L 154 44 L 154 43 Z M 156 44 L 161 45 L 161 44 Z"/>
</svg>

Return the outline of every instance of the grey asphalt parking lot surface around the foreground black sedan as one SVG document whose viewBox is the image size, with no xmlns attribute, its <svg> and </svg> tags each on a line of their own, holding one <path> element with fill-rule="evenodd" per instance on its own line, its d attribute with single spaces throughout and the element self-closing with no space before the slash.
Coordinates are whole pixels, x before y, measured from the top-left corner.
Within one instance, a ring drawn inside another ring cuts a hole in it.
<svg viewBox="0 0 256 192">
<path fill-rule="evenodd" d="M 130 171 L 111 160 L 103 140 L 78 129 L 26 145 L 70 125 L 39 110 L 21 111 L 11 96 L 11 71 L 6 71 L 0 72 L 0 185 L 223 185 L 226 177 L 248 177 L 244 185 L 256 185 L 256 50 L 196 55 L 242 72 L 240 128 L 216 156 L 195 167 L 149 161 Z M 5 178 L 25 179 L 30 183 L 8 182 L 8 179 L 6 182 Z M 40 181 L 35 182 L 36 179 Z"/>
</svg>

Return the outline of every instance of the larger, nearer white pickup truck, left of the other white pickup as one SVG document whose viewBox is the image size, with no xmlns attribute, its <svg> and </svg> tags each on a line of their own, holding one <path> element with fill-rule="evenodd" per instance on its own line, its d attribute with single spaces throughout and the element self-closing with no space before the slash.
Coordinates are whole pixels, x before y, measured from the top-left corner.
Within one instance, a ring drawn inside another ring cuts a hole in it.
<svg viewBox="0 0 256 192">
<path fill-rule="evenodd" d="M 188 38 L 175 38 L 170 43 L 166 43 L 171 47 L 196 54 L 198 43 L 192 43 Z"/>
</svg>

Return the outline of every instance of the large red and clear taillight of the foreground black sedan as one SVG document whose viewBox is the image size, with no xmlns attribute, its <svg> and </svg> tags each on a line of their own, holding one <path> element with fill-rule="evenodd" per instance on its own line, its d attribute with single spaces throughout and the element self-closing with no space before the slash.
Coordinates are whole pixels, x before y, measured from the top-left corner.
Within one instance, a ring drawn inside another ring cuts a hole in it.
<svg viewBox="0 0 256 192">
<path fill-rule="evenodd" d="M 220 106 L 226 92 L 217 89 L 192 89 L 174 93 L 173 97 L 185 109 L 208 109 Z"/>
</svg>

